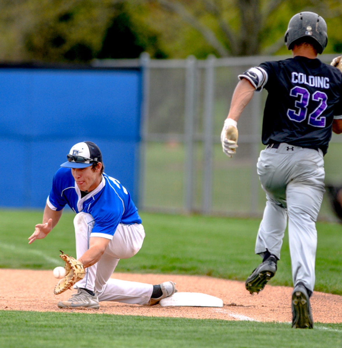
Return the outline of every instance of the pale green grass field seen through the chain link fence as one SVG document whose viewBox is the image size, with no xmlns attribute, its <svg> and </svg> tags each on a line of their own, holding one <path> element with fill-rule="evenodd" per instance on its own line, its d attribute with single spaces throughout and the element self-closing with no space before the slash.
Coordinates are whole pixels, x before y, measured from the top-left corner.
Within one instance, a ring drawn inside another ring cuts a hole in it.
<svg viewBox="0 0 342 348">
<path fill-rule="evenodd" d="M 259 150 L 264 145 L 260 144 Z M 212 212 L 245 214 L 263 212 L 265 192 L 256 172 L 257 159 L 251 158 L 250 144 L 240 144 L 236 156 L 228 158 L 221 144 L 214 144 L 212 170 Z M 342 143 L 331 143 L 325 160 L 326 183 L 342 186 Z M 177 142 L 149 142 L 146 151 L 146 187 L 144 206 L 156 209 L 184 209 L 185 148 Z M 202 209 L 203 146 L 194 147 L 194 208 Z M 257 182 L 256 206 L 252 206 L 251 180 Z M 319 219 L 333 220 L 334 214 L 324 195 Z"/>
</svg>

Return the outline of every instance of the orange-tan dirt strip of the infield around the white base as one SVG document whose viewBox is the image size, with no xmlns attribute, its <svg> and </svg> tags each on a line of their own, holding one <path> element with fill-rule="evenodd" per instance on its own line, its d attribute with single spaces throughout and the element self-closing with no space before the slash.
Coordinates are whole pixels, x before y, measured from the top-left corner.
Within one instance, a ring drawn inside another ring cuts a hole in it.
<svg viewBox="0 0 342 348">
<path fill-rule="evenodd" d="M 72 291 L 54 295 L 57 279 L 52 271 L 0 269 L 0 309 L 32 311 L 66 311 L 155 317 L 209 318 L 290 322 L 292 288 L 267 285 L 259 295 L 250 295 L 243 282 L 207 276 L 115 273 L 115 278 L 158 284 L 166 280 L 177 283 L 179 292 L 201 292 L 219 297 L 223 307 L 139 306 L 118 302 L 100 302 L 100 309 L 59 309 L 57 302 L 70 298 Z M 114 276 L 113 275 L 113 276 Z M 342 296 L 314 292 L 311 298 L 315 322 L 342 322 Z"/>
</svg>

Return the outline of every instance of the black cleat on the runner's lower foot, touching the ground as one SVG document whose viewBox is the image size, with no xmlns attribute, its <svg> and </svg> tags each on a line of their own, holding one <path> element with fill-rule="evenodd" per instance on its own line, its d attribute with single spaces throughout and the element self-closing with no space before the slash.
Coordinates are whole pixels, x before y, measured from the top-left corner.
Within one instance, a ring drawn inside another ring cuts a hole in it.
<svg viewBox="0 0 342 348">
<path fill-rule="evenodd" d="M 292 327 L 295 329 L 313 328 L 308 291 L 301 283 L 297 284 L 292 292 Z"/>
</svg>

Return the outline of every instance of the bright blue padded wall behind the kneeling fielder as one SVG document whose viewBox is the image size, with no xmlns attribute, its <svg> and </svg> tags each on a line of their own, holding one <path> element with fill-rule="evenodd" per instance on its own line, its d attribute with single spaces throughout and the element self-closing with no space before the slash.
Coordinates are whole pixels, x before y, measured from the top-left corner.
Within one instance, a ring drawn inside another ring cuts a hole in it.
<svg viewBox="0 0 342 348">
<path fill-rule="evenodd" d="M 73 144 L 93 141 L 138 205 L 141 71 L 0 68 L 1 206 L 44 207 Z"/>
</svg>

